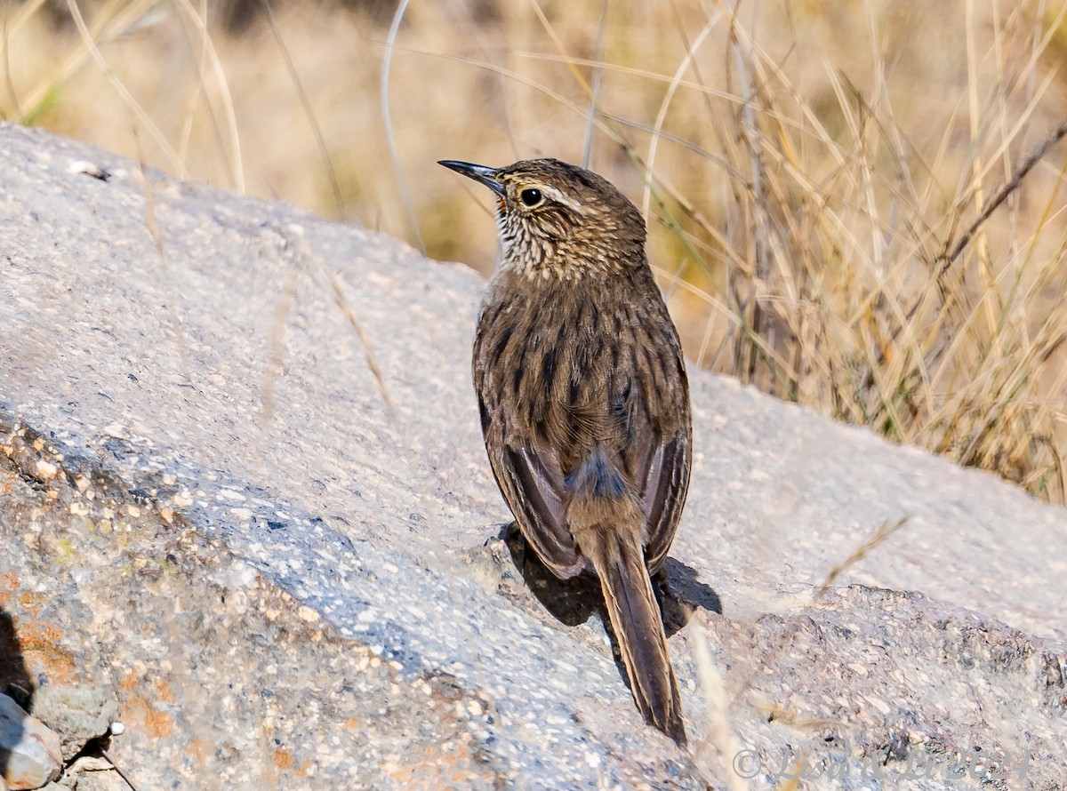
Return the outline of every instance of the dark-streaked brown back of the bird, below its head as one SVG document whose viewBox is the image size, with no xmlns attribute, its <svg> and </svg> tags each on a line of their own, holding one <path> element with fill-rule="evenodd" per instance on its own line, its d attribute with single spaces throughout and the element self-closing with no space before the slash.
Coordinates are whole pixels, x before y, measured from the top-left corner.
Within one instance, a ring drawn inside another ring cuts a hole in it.
<svg viewBox="0 0 1067 791">
<path fill-rule="evenodd" d="M 642 489 L 657 450 L 669 443 L 681 474 L 646 515 L 646 544 L 658 565 L 688 484 L 690 416 L 681 343 L 652 274 L 642 261 L 537 289 L 526 280 L 498 272 L 479 318 L 474 380 L 490 457 L 504 459 L 509 448 L 553 449 L 564 510 L 584 464 L 591 485 L 652 505 Z M 509 505 L 522 513 L 513 502 L 521 493 L 499 478 Z"/>
</svg>

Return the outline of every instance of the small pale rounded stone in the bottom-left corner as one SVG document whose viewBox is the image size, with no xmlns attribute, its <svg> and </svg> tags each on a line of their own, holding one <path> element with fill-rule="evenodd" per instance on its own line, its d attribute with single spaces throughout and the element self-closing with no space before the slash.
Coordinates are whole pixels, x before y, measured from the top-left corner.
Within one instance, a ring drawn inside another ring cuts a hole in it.
<svg viewBox="0 0 1067 791">
<path fill-rule="evenodd" d="M 0 777 L 11 791 L 59 777 L 60 738 L 6 695 L 0 695 Z"/>
</svg>

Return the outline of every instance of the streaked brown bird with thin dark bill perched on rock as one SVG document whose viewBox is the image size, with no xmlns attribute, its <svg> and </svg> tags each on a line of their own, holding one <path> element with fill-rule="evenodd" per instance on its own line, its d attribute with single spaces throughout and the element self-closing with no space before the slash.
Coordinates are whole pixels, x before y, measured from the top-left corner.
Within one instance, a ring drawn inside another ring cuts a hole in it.
<svg viewBox="0 0 1067 791">
<path fill-rule="evenodd" d="M 689 485 L 689 387 L 644 221 L 604 178 L 558 160 L 440 164 L 497 198 L 500 262 L 474 343 L 496 482 L 557 577 L 600 578 L 637 708 L 684 743 L 650 575 Z"/>
</svg>

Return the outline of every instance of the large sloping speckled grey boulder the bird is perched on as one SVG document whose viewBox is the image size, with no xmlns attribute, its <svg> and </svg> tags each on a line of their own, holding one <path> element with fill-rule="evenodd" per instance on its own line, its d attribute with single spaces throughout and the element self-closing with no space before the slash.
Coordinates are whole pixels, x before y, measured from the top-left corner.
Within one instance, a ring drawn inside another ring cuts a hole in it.
<svg viewBox="0 0 1067 791">
<path fill-rule="evenodd" d="M 1063 787 L 1064 510 L 694 372 L 683 752 L 498 538 L 477 275 L 37 130 L 0 161 L 0 684 L 114 695 L 139 787 Z"/>
</svg>

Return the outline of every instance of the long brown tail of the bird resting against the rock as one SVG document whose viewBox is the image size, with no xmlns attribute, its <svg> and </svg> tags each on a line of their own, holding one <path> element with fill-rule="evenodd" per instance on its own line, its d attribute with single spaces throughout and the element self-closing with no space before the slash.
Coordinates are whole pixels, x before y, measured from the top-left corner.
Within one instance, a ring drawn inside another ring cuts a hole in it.
<svg viewBox="0 0 1067 791">
<path fill-rule="evenodd" d="M 682 698 L 637 536 L 614 526 L 587 529 L 582 535 L 582 551 L 600 577 L 638 710 L 647 723 L 685 744 Z"/>
</svg>

